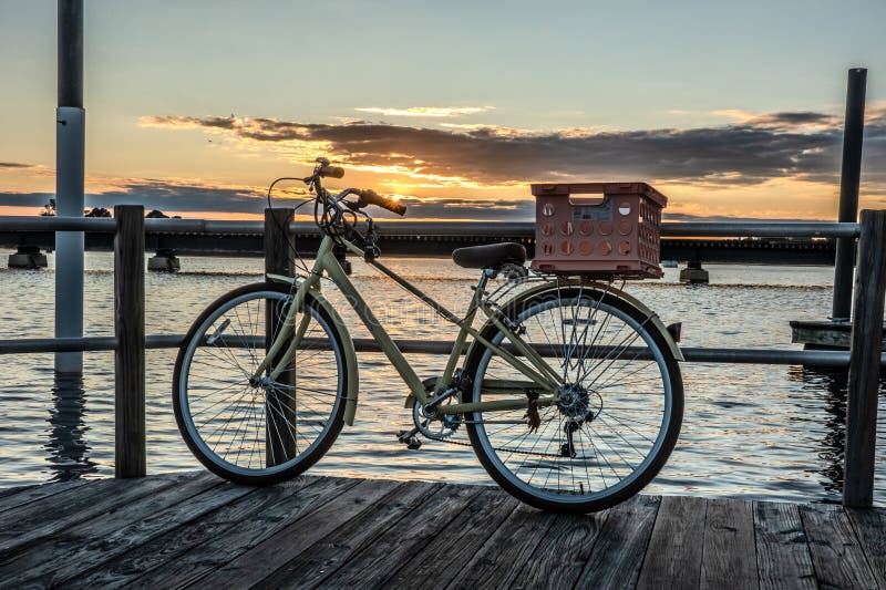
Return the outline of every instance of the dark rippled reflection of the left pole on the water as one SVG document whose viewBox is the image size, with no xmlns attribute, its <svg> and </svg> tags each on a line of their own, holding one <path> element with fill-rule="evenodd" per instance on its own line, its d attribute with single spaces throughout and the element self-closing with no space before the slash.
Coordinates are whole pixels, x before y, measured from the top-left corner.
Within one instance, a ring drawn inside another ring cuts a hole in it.
<svg viewBox="0 0 886 590">
<path fill-rule="evenodd" d="M 90 446 L 85 441 L 86 402 L 83 377 L 55 374 L 52 387 L 52 408 L 49 411 L 49 441 L 43 445 L 52 477 L 50 482 L 66 482 L 96 472 L 97 465 L 90 460 Z"/>
</svg>

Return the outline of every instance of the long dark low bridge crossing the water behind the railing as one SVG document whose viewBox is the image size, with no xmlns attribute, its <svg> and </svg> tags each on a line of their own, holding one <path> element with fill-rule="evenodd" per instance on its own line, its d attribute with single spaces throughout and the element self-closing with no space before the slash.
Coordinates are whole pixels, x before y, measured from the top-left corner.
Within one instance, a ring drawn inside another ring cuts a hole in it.
<svg viewBox="0 0 886 590">
<path fill-rule="evenodd" d="M 21 220 L 22 218 L 17 218 Z M 814 226 L 815 224 L 783 224 Z M 21 224 L 19 224 L 21 226 Z M 535 224 L 488 221 L 381 221 L 379 246 L 388 256 L 449 256 L 462 246 L 517 241 L 535 251 Z M 735 231 L 735 224 L 729 224 Z M 320 231 L 310 222 L 293 224 L 296 245 L 306 256 L 316 251 Z M 699 235 L 702 231 L 705 235 Z M 720 235 L 718 235 L 720 234 Z M 770 265 L 833 265 L 835 241 L 825 238 L 730 237 L 715 231 L 715 225 L 664 224 L 662 260 Z M 745 234 L 740 234 L 745 235 Z M 0 247 L 37 247 L 52 250 L 55 234 L 34 226 L 10 229 L 0 226 Z M 113 249 L 113 234 L 87 231 L 87 250 Z M 264 228 L 260 221 L 206 221 L 188 219 L 146 220 L 145 247 L 174 250 L 179 256 L 264 256 Z"/>
</svg>

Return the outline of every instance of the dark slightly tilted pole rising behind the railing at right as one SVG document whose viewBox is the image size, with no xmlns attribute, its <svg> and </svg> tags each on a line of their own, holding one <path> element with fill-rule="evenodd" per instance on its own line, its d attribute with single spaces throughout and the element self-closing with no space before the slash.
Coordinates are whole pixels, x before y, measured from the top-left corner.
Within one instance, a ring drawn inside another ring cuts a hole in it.
<svg viewBox="0 0 886 590">
<path fill-rule="evenodd" d="M 843 168 L 839 177 L 841 222 L 855 222 L 858 217 L 858 184 L 862 178 L 862 139 L 865 128 L 865 86 L 867 70 L 849 70 L 846 89 L 846 121 L 843 132 Z M 852 275 L 855 262 L 855 240 L 837 239 L 834 267 L 834 304 L 831 318 L 848 321 L 852 311 Z"/>
</svg>

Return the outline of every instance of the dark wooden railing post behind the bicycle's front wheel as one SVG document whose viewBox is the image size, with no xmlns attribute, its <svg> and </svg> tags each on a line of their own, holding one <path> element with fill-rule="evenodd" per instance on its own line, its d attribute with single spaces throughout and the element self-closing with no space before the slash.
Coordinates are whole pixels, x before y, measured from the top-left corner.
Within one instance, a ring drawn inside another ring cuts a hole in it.
<svg viewBox="0 0 886 590">
<path fill-rule="evenodd" d="M 289 222 L 295 218 L 295 209 L 265 209 L 265 272 L 274 275 L 295 273 L 295 237 L 289 232 Z M 285 311 L 282 306 L 265 309 L 266 350 L 270 348 L 277 333 L 279 320 Z M 278 377 L 281 383 L 295 383 L 295 372 L 287 371 Z M 295 391 L 291 395 L 272 396 L 268 394 L 265 405 L 265 463 L 268 466 L 281 463 L 281 457 L 292 456 L 295 435 L 290 424 L 297 424 L 295 408 Z M 284 413 L 285 415 L 281 415 Z M 284 433 L 291 433 L 291 436 Z"/>
</svg>

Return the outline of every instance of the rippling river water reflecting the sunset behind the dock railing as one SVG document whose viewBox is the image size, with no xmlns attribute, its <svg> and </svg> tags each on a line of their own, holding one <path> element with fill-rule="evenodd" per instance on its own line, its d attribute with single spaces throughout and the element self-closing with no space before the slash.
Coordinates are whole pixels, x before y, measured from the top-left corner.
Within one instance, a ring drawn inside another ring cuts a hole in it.
<svg viewBox="0 0 886 590">
<path fill-rule="evenodd" d="M 7 255 L 0 251 L 0 263 Z M 463 310 L 476 271 L 447 259 L 385 263 L 453 311 Z M 38 271 L 0 269 L 0 339 L 53 333 L 54 260 Z M 389 279 L 354 261 L 354 282 L 394 338 L 446 339 L 454 330 Z M 86 255 L 85 332 L 113 334 L 113 258 Z M 628 292 L 664 323 L 683 323 L 682 345 L 796 349 L 789 320 L 831 310 L 833 269 L 714 266 L 709 286 L 683 286 L 677 269 Z M 262 261 L 182 258 L 177 275 L 147 273 L 147 333 L 184 333 L 222 293 L 261 279 Z M 324 288 L 329 297 L 331 289 Z M 334 299 L 334 296 L 332 296 Z M 343 310 L 350 311 L 350 310 Z M 365 337 L 352 312 L 352 335 Z M 470 448 L 395 441 L 409 426 L 405 387 L 387 359 L 360 355 L 360 407 L 313 474 L 491 484 Z M 169 401 L 175 351 L 147 352 L 150 474 L 202 468 L 182 442 Z M 410 355 L 421 376 L 444 358 Z M 796 501 L 835 501 L 842 484 L 845 377 L 802 366 L 683 364 L 686 415 L 668 465 L 647 491 Z M 0 487 L 113 476 L 113 353 L 84 354 L 82 382 L 56 382 L 51 354 L 0 356 Z M 883 396 L 880 398 L 883 422 Z M 886 433 L 883 425 L 880 433 Z M 461 436 L 464 437 L 464 434 Z M 465 437 L 466 438 L 466 437 Z M 875 498 L 886 488 L 886 436 L 879 435 Z"/>
</svg>

